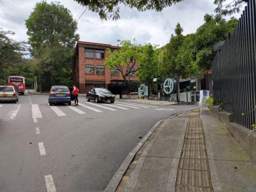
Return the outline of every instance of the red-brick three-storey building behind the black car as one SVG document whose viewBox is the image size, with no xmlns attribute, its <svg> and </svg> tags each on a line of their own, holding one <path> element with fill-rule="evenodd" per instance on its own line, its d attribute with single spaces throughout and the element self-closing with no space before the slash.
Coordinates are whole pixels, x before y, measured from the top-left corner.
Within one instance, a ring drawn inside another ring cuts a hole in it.
<svg viewBox="0 0 256 192">
<path fill-rule="evenodd" d="M 87 93 L 93 87 L 108 88 L 108 84 L 111 82 L 123 81 L 118 70 L 109 70 L 103 65 L 104 58 L 108 57 L 106 50 L 108 48 L 112 51 L 120 49 L 120 47 L 109 44 L 77 41 L 74 55 L 73 81 L 78 85 L 80 93 Z M 137 68 L 138 63 L 135 65 L 135 69 Z M 125 72 L 127 67 L 124 67 L 123 70 Z M 134 73 L 131 73 L 130 80 L 134 81 L 138 80 L 138 78 Z"/>
</svg>

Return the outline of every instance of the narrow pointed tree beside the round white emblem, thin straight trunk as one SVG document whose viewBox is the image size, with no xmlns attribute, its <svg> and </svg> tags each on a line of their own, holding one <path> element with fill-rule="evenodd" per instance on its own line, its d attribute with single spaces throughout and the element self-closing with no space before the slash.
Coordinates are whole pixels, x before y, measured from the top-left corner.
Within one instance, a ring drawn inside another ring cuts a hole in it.
<svg viewBox="0 0 256 192">
<path fill-rule="evenodd" d="M 163 63 L 160 66 L 162 75 L 176 74 L 177 102 L 180 100 L 180 78 L 187 78 L 198 72 L 189 49 L 192 36 L 183 36 L 180 24 L 176 25 L 175 35 L 171 35 L 169 43 L 164 47 Z"/>
</svg>

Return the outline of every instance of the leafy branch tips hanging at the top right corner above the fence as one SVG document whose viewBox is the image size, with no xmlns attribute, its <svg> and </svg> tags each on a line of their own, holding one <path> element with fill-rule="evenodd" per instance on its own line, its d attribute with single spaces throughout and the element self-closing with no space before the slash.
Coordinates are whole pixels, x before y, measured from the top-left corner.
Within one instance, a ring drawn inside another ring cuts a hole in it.
<svg viewBox="0 0 256 192">
<path fill-rule="evenodd" d="M 231 15 L 233 13 L 239 13 L 240 8 L 243 7 L 244 4 L 248 3 L 248 0 L 234 0 L 230 3 L 223 5 L 227 0 L 215 0 L 214 4 L 217 5 L 215 12 L 221 15 Z M 224 9 L 223 9 L 224 7 Z"/>
</svg>

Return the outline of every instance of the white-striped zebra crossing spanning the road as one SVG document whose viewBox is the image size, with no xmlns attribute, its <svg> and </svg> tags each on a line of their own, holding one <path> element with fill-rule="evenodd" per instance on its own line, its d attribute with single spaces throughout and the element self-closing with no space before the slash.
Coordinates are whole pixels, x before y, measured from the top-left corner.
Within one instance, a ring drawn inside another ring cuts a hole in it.
<svg viewBox="0 0 256 192">
<path fill-rule="evenodd" d="M 0 104 L 0 115 L 4 118 L 0 120 L 3 121 L 12 121 L 15 119 L 18 113 L 20 112 L 20 107 L 25 104 L 14 104 L 11 106 L 5 104 Z M 49 104 L 31 104 L 31 114 L 34 122 L 37 122 L 38 118 L 44 118 L 46 116 L 56 116 L 56 117 L 65 117 L 72 114 L 84 115 L 92 113 L 107 113 L 112 111 L 116 113 L 117 111 L 127 111 L 127 110 L 138 110 L 138 109 L 154 109 L 157 106 L 146 105 L 146 104 L 137 104 L 131 102 L 114 102 L 114 103 L 95 103 L 95 102 L 83 102 L 79 103 L 78 106 L 72 105 L 54 105 L 50 106 Z M 49 110 L 48 110 L 49 109 Z M 27 109 L 28 110 L 28 109 Z M 21 110 L 22 111 L 22 110 Z M 3 113 L 6 112 L 3 116 Z M 24 112 L 23 112 L 24 113 Z"/>
</svg>

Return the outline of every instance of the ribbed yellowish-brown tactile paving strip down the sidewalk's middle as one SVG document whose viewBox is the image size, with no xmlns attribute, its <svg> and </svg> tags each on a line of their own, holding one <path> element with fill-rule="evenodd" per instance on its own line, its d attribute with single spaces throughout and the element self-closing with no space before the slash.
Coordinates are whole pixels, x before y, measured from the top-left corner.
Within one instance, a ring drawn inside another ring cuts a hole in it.
<svg viewBox="0 0 256 192">
<path fill-rule="evenodd" d="M 177 192 L 213 192 L 200 110 L 191 111 L 176 179 Z"/>
</svg>

